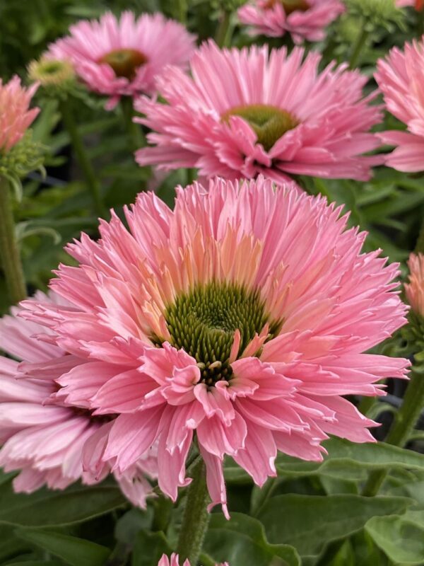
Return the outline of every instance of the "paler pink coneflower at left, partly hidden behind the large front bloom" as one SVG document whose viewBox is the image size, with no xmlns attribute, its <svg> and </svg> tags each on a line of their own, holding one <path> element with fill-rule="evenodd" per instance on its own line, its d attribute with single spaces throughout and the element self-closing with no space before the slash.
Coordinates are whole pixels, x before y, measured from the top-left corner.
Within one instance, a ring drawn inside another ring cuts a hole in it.
<svg viewBox="0 0 424 566">
<path fill-rule="evenodd" d="M 63 304 L 53 294 L 38 293 L 31 301 Z M 71 376 L 86 359 L 52 343 L 51 332 L 18 318 L 19 312 L 14 307 L 11 316 L 0 319 L 1 348 L 24 360 L 0 357 L 0 466 L 6 472 L 20 470 L 13 480 L 17 492 L 33 492 L 42 485 L 64 489 L 79 479 L 98 483 L 110 473 L 110 466 L 99 460 L 96 450 L 101 454 L 101 439 L 114 415 L 95 417 L 84 404 L 63 402 L 58 376 Z M 83 469 L 84 451 L 88 461 L 96 462 L 95 473 Z M 145 475 L 155 477 L 156 469 L 152 452 L 124 473 L 115 473 L 122 492 L 135 505 L 146 506 L 151 485 Z"/>
</svg>

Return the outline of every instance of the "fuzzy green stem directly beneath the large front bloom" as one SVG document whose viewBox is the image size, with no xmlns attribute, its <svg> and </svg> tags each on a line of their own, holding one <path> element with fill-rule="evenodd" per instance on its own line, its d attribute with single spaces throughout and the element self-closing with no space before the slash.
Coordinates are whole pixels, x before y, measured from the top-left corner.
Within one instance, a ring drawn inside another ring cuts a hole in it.
<svg viewBox="0 0 424 566">
<path fill-rule="evenodd" d="M 178 553 L 181 562 L 188 559 L 194 566 L 199 560 L 210 516 L 206 509 L 210 499 L 203 460 L 196 464 L 192 475 L 193 481 L 187 491 L 182 527 L 179 533 Z"/>
</svg>

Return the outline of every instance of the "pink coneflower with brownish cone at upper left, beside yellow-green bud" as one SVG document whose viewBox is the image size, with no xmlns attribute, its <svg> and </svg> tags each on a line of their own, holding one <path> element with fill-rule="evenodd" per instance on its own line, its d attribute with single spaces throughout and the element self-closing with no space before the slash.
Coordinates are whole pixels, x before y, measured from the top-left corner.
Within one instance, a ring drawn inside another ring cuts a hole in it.
<svg viewBox="0 0 424 566">
<path fill-rule="evenodd" d="M 161 13 L 134 17 L 111 12 L 100 21 L 81 21 L 49 46 L 48 56 L 69 59 L 90 90 L 110 97 L 107 109 L 121 96 L 155 91 L 155 76 L 167 64 L 185 67 L 194 50 L 194 36 Z"/>
</svg>

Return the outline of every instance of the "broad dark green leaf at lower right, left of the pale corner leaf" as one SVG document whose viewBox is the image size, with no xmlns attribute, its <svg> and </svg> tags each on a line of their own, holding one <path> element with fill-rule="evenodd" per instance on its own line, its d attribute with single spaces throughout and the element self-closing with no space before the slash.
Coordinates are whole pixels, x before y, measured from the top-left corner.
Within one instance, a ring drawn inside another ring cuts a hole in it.
<svg viewBox="0 0 424 566">
<path fill-rule="evenodd" d="M 259 513 L 272 543 L 290 543 L 302 556 L 355 533 L 372 516 L 404 512 L 412 499 L 360 495 L 278 495 Z"/>
</svg>

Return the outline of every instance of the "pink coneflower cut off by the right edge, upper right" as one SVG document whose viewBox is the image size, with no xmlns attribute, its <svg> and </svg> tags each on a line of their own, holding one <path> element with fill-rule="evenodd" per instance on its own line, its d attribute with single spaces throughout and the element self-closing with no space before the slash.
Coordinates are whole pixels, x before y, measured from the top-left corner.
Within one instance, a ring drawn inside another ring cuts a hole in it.
<svg viewBox="0 0 424 566">
<path fill-rule="evenodd" d="M 394 47 L 386 59 L 379 59 L 375 80 L 384 95 L 387 110 L 404 122 L 407 132 L 382 132 L 384 143 L 396 146 L 386 164 L 398 171 L 424 170 L 424 44 L 406 43 L 404 52 Z"/>
</svg>

